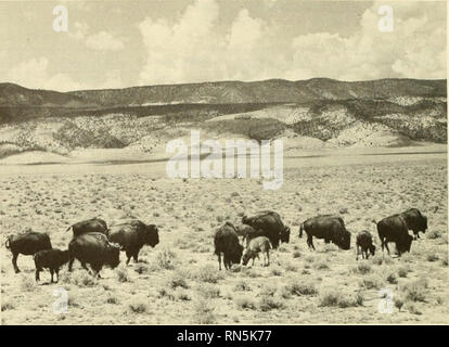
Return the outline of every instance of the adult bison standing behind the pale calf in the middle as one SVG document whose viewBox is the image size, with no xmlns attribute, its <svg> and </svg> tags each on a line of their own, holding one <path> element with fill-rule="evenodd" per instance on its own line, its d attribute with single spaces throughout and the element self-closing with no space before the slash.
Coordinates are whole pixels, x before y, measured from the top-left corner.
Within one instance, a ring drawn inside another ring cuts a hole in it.
<svg viewBox="0 0 449 347">
<path fill-rule="evenodd" d="M 273 248 L 278 248 L 281 241 L 290 241 L 290 228 L 285 227 L 281 216 L 272 210 L 261 211 L 254 217 L 243 216 L 242 223 L 253 227 L 257 232 L 261 231 L 257 236 L 268 237 Z"/>
</svg>

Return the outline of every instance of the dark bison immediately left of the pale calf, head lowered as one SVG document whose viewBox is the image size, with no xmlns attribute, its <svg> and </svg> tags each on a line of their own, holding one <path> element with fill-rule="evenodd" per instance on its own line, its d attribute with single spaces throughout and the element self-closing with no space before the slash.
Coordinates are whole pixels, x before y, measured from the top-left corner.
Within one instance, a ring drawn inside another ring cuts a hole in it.
<svg viewBox="0 0 449 347">
<path fill-rule="evenodd" d="M 224 269 L 230 269 L 232 264 L 240 264 L 243 246 L 239 242 L 238 233 L 232 223 L 226 222 L 214 236 L 215 254 L 218 256 L 218 268 L 221 270 L 221 254 L 223 254 Z"/>
</svg>

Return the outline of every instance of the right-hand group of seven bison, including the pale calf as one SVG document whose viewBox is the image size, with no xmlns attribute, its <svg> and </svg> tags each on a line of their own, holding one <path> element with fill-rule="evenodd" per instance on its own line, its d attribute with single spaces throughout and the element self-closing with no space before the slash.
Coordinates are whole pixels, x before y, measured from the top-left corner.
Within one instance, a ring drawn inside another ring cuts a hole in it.
<svg viewBox="0 0 449 347">
<path fill-rule="evenodd" d="M 375 221 L 374 221 L 375 222 Z M 388 243 L 396 245 L 396 250 L 400 256 L 405 252 L 410 252 L 413 239 L 420 237 L 420 232 L 427 230 L 427 217 L 416 208 L 410 208 L 402 214 L 386 217 L 377 223 L 377 233 L 382 244 L 382 252 L 387 249 Z M 414 237 L 409 234 L 413 231 Z M 342 217 L 335 215 L 320 215 L 305 220 L 299 226 L 299 237 L 304 232 L 307 234 L 307 245 L 315 249 L 313 236 L 323 239 L 325 243 L 333 243 L 341 249 L 350 249 L 350 232 L 346 229 Z M 243 237 L 246 246 L 245 253 L 239 236 Z M 270 249 L 278 248 L 280 243 L 288 243 L 290 228 L 284 226 L 279 214 L 274 211 L 262 211 L 254 217 L 242 218 L 242 224 L 234 227 L 230 222 L 219 228 L 215 233 L 214 244 L 215 254 L 218 256 L 218 268 L 221 270 L 221 254 L 223 254 L 224 268 L 229 269 L 232 264 L 246 265 L 251 259 L 259 258 L 264 255 L 264 265 L 270 264 Z M 358 260 L 361 252 L 362 258 L 374 255 L 375 245 L 371 233 L 362 230 L 357 234 L 356 248 Z"/>
</svg>

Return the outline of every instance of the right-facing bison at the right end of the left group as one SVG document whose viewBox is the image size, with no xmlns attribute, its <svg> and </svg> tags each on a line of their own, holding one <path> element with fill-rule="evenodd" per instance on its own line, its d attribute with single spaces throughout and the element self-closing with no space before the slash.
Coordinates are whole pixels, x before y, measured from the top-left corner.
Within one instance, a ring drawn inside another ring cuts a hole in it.
<svg viewBox="0 0 449 347">
<path fill-rule="evenodd" d="M 159 243 L 158 229 L 155 224 L 145 224 L 140 220 L 131 220 L 110 229 L 111 242 L 117 243 L 121 246 L 121 250 L 126 252 L 129 264 L 131 257 L 134 262 L 138 262 L 139 252 L 144 245 L 152 247 Z"/>
</svg>

